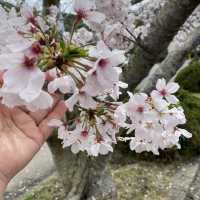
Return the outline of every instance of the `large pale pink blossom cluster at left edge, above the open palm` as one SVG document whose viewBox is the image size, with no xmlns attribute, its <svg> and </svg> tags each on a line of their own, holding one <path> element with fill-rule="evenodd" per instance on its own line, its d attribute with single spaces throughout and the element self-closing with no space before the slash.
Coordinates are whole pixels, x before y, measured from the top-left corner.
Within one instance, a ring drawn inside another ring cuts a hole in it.
<svg viewBox="0 0 200 200">
<path fill-rule="evenodd" d="M 29 110 L 51 107 L 52 98 L 42 89 L 45 73 L 38 65 L 43 47 L 42 37 L 37 40 L 37 29 L 45 31 L 43 19 L 26 5 L 20 16 L 14 9 L 9 13 L 1 9 L 0 13 L 2 103 L 8 107 L 26 106 Z"/>
</svg>

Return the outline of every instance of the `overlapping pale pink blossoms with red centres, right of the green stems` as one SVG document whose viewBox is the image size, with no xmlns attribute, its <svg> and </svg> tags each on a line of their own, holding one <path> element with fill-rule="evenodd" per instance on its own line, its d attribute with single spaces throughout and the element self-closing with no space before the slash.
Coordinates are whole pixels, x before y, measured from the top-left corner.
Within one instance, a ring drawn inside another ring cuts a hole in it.
<svg viewBox="0 0 200 200">
<path fill-rule="evenodd" d="M 88 72 L 85 89 L 96 96 L 99 92 L 112 89 L 119 82 L 118 69 L 115 67 L 125 61 L 125 56 L 123 51 L 111 51 L 103 41 L 90 51 L 90 56 L 97 58 L 97 61 Z"/>
</svg>

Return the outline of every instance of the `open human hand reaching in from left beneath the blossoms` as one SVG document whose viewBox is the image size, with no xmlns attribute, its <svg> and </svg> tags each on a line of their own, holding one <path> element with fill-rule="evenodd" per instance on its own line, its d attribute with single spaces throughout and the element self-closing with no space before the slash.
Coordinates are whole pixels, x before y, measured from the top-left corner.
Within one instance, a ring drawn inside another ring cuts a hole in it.
<svg viewBox="0 0 200 200">
<path fill-rule="evenodd" d="M 27 113 L 20 108 L 9 109 L 0 104 L 0 194 L 51 135 L 48 121 L 62 118 L 65 112 L 62 101 L 51 111 L 37 113 Z"/>
</svg>

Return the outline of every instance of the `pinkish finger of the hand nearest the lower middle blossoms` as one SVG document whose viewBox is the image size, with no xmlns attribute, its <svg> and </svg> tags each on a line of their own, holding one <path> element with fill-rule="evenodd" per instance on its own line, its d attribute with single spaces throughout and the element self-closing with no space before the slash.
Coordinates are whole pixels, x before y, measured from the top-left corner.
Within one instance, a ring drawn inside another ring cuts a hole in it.
<svg viewBox="0 0 200 200">
<path fill-rule="evenodd" d="M 65 106 L 64 101 L 60 101 L 53 111 L 49 113 L 49 115 L 40 123 L 39 129 L 41 133 L 44 135 L 45 139 L 47 139 L 54 128 L 48 126 L 48 122 L 52 119 L 62 119 L 64 117 L 65 112 L 67 111 L 67 107 Z"/>
</svg>

